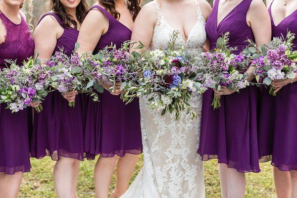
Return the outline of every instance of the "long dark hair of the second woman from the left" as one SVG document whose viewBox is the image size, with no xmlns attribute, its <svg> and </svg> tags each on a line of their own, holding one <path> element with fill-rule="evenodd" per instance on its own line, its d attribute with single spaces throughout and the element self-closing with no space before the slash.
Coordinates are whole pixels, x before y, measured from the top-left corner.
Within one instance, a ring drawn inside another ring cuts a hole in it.
<svg viewBox="0 0 297 198">
<path fill-rule="evenodd" d="M 82 23 L 86 17 L 89 6 L 86 0 L 81 0 L 78 6 L 76 7 L 76 18 Z M 52 10 L 55 14 L 57 14 L 60 19 L 63 21 L 63 26 L 70 28 L 71 25 L 77 29 L 77 22 L 70 15 L 70 13 L 65 9 L 60 0 L 49 0 L 49 10 Z"/>
</svg>

